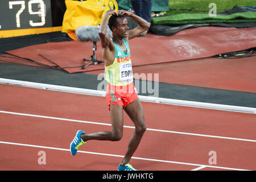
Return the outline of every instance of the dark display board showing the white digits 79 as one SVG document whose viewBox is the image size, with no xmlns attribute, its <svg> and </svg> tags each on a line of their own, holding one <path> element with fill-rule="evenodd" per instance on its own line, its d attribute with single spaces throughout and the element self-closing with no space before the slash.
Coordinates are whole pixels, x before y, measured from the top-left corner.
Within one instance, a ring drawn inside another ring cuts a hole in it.
<svg viewBox="0 0 256 182">
<path fill-rule="evenodd" d="M 62 26 L 64 0 L 1 0 L 0 31 Z"/>
</svg>

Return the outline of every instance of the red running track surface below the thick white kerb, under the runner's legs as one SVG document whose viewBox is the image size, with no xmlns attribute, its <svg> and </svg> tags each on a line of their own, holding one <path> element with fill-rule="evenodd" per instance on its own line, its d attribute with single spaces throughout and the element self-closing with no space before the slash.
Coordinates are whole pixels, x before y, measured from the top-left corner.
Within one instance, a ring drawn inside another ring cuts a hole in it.
<svg viewBox="0 0 256 182">
<path fill-rule="evenodd" d="M 111 126 L 104 125 L 110 123 L 104 97 L 0 85 L 0 100 L 1 170 L 117 170 L 134 130 L 124 127 L 123 138 L 119 142 L 88 141 L 80 151 L 96 153 L 79 152 L 72 156 L 68 149 L 77 130 L 91 133 L 111 129 Z M 142 105 L 148 131 L 134 154 L 136 159 L 131 159 L 135 168 L 191 170 L 203 166 L 201 170 L 256 169 L 254 114 L 149 102 L 142 102 Z M 42 115 L 56 118 L 43 118 Z M 133 126 L 126 114 L 124 118 L 125 126 Z M 38 164 L 39 151 L 46 152 L 46 165 Z M 210 151 L 216 151 L 217 164 L 209 164 Z"/>
</svg>

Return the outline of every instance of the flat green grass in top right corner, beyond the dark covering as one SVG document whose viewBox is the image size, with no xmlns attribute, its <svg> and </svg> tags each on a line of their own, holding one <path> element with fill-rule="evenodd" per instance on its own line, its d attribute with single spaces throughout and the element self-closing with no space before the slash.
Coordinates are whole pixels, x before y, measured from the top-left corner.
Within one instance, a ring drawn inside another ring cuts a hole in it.
<svg viewBox="0 0 256 182">
<path fill-rule="evenodd" d="M 255 6 L 255 0 L 169 0 L 170 11 L 166 15 L 182 13 L 208 13 L 209 4 L 215 3 L 217 13 L 232 9 L 234 6 Z"/>
</svg>

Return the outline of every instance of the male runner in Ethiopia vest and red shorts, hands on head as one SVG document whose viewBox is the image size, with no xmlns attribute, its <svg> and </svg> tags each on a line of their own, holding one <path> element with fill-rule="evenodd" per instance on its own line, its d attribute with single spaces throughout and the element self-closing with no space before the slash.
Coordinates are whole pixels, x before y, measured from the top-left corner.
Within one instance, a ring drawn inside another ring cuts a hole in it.
<svg viewBox="0 0 256 182">
<path fill-rule="evenodd" d="M 110 15 L 112 16 L 109 18 Z M 138 27 L 129 30 L 125 16 L 133 18 L 138 23 Z M 108 20 L 113 39 L 106 35 Z M 76 137 L 71 142 L 72 155 L 76 155 L 79 147 L 88 140 L 120 140 L 123 136 L 123 110 L 125 110 L 135 125 L 135 131 L 118 170 L 136 170 L 129 162 L 139 142 L 141 142 L 144 131 L 146 131 L 146 125 L 141 101 L 133 84 L 129 40 L 137 37 L 149 27 L 150 23 L 128 11 L 119 10 L 115 12 L 109 10 L 106 12 L 98 34 L 100 35 L 102 56 L 105 61 L 105 78 L 109 82 L 106 88 L 106 101 L 110 110 L 112 131 L 100 131 L 98 133 L 77 131 Z"/>
</svg>

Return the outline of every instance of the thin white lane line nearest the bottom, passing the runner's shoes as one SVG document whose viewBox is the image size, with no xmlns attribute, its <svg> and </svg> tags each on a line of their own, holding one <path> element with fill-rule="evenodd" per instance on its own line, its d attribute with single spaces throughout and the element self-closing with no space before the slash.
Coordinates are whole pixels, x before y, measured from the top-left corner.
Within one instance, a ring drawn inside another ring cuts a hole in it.
<svg viewBox="0 0 256 182">
<path fill-rule="evenodd" d="M 14 143 L 14 142 L 3 142 L 0 141 L 2 144 L 12 144 L 16 146 L 26 146 L 26 147 L 35 147 L 35 148 L 46 148 L 46 149 L 51 149 L 51 150 L 60 150 L 60 151 L 68 151 L 70 152 L 69 149 L 66 148 L 56 148 L 56 147 L 46 147 L 46 146 L 38 146 L 34 144 L 24 144 L 24 143 Z M 112 156 L 112 157 L 118 157 L 118 158 L 123 158 L 123 155 L 115 155 L 115 154 L 105 154 L 105 153 L 100 153 L 100 152 L 89 152 L 89 151 L 77 151 L 85 154 L 93 154 L 93 155 L 104 155 L 104 156 Z M 219 168 L 219 169 L 228 169 L 228 170 L 235 170 L 235 171 L 250 171 L 249 169 L 239 169 L 239 168 L 230 168 L 230 167 L 220 167 L 220 166 L 207 166 L 203 164 L 193 164 L 193 163 L 183 163 L 183 162 L 175 162 L 171 160 L 159 160 L 159 159 L 150 159 L 150 158 L 138 158 L 138 157 L 132 157 L 132 159 L 138 159 L 138 160 L 149 160 L 149 161 L 154 161 L 154 162 L 162 162 L 162 163 L 173 163 L 173 164 L 183 164 L 183 165 L 188 165 L 188 166 L 199 166 L 199 167 L 210 167 L 210 168 Z"/>
</svg>

